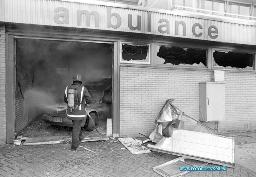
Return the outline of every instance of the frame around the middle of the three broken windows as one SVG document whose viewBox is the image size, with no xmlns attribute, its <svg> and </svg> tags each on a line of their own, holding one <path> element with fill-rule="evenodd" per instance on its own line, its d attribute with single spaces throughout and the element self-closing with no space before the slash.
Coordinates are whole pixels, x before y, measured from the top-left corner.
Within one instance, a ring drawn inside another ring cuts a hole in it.
<svg viewBox="0 0 256 177">
<path fill-rule="evenodd" d="M 181 47 L 181 48 L 193 48 L 193 49 L 202 49 L 206 50 L 206 66 L 200 67 L 200 66 L 179 66 L 179 65 L 166 65 L 166 64 L 157 64 L 157 53 L 159 50 L 157 50 L 157 46 L 170 46 L 170 47 Z M 209 60 L 209 46 L 200 46 L 200 45 L 194 45 L 195 47 L 191 47 L 191 44 L 177 44 L 177 43 L 156 43 L 155 44 L 155 67 L 163 67 L 163 68 L 186 68 L 186 69 L 203 69 L 207 70 L 210 69 L 211 61 Z"/>
</svg>

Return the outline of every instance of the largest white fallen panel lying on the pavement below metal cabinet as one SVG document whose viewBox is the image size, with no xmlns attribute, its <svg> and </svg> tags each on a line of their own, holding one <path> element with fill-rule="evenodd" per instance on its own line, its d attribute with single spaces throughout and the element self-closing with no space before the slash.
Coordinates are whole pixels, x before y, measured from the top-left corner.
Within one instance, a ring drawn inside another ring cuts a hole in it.
<svg viewBox="0 0 256 177">
<path fill-rule="evenodd" d="M 189 157 L 213 164 L 234 167 L 235 141 L 233 137 L 173 129 L 172 137 L 162 138 L 148 149 Z"/>
</svg>

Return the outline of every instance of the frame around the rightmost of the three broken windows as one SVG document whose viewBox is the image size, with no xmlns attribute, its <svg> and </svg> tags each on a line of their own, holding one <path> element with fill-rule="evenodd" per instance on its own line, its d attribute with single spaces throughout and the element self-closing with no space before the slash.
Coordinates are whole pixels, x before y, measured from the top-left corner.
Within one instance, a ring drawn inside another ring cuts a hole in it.
<svg viewBox="0 0 256 177">
<path fill-rule="evenodd" d="M 234 53 L 249 53 L 253 54 L 253 66 L 252 70 L 251 69 L 245 69 L 245 68 L 222 68 L 222 67 L 213 67 L 214 58 L 213 58 L 213 52 L 214 51 L 220 51 L 220 52 L 234 52 Z M 250 50 L 244 50 L 244 49 L 231 49 L 231 48 L 220 48 L 220 47 L 212 47 L 212 53 L 211 53 L 211 58 L 212 58 L 212 64 L 211 68 L 213 70 L 224 70 L 224 71 L 241 71 L 241 72 L 256 72 L 255 70 L 255 61 L 256 61 L 256 51 L 250 51 Z"/>
</svg>

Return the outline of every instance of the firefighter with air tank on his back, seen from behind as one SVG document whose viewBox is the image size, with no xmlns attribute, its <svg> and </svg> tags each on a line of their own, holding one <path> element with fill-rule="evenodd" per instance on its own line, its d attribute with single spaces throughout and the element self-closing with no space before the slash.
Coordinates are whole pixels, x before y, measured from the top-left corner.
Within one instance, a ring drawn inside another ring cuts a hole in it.
<svg viewBox="0 0 256 177">
<path fill-rule="evenodd" d="M 73 122 L 71 151 L 83 151 L 79 143 L 83 140 L 81 123 L 86 118 L 84 106 L 90 104 L 92 97 L 88 90 L 82 86 L 83 76 L 75 74 L 73 84 L 65 89 L 64 101 L 68 104 L 67 116 Z"/>
</svg>

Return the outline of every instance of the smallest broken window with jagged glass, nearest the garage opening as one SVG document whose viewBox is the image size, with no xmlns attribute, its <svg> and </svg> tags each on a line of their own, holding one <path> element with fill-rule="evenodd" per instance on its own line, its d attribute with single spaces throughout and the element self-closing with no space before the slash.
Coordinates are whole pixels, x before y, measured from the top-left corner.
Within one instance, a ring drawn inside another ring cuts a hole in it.
<svg viewBox="0 0 256 177">
<path fill-rule="evenodd" d="M 122 63 L 150 64 L 149 45 L 122 44 Z"/>
</svg>

